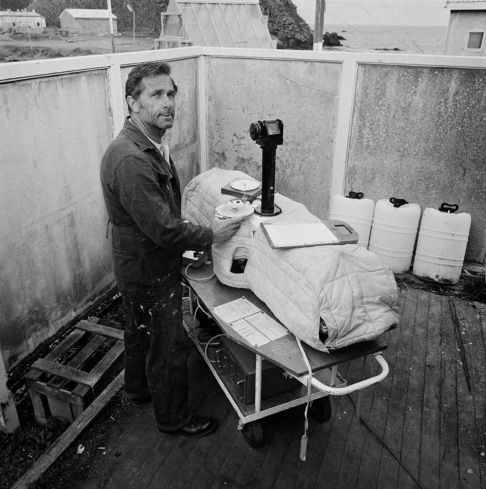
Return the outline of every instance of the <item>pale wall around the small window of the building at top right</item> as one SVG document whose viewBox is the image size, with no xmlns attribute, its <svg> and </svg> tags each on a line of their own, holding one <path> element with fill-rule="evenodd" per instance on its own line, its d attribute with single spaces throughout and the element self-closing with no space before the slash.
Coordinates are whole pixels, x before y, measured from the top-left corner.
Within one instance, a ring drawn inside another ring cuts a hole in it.
<svg viewBox="0 0 486 489">
<path fill-rule="evenodd" d="M 486 10 L 451 11 L 444 46 L 444 54 L 450 54 L 453 56 L 485 56 L 486 40 L 483 42 L 483 49 L 481 51 L 466 49 L 469 39 L 469 31 L 484 31 L 485 28 Z"/>
</svg>

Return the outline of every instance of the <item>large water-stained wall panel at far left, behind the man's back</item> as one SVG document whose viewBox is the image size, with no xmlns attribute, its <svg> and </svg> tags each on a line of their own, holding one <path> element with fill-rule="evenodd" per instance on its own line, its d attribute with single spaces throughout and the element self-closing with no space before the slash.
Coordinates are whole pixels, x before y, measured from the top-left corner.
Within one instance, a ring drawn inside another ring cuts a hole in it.
<svg viewBox="0 0 486 489">
<path fill-rule="evenodd" d="M 112 129 L 104 70 L 0 84 L 0 107 L 8 369 L 113 280 L 99 181 Z"/>
</svg>

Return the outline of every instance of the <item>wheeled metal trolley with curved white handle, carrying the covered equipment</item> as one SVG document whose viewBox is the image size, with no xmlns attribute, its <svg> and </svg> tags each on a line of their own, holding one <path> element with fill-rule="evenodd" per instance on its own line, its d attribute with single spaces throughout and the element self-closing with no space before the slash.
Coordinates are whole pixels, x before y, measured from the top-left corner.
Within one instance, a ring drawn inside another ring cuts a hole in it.
<svg viewBox="0 0 486 489">
<path fill-rule="evenodd" d="M 309 413 L 311 416 L 318 422 L 324 422 L 331 417 L 330 395 L 350 394 L 380 382 L 387 377 L 388 364 L 382 355 L 383 350 L 386 349 L 386 344 L 381 340 L 365 341 L 332 353 L 324 353 L 308 345 L 303 345 L 308 359 L 307 365 L 293 334 L 270 341 L 258 348 L 254 347 L 231 326 L 221 321 L 216 315 L 212 315 L 211 311 L 216 306 L 244 296 L 274 318 L 266 305 L 248 289 L 237 289 L 223 285 L 212 274 L 212 266 L 210 265 L 189 270 L 190 274 L 189 276 L 186 275 L 185 281 L 189 287 L 189 303 L 191 307 L 189 314 L 184 315 L 184 327 L 190 333 L 196 348 L 235 409 L 239 419 L 238 430 L 242 432 L 244 439 L 250 446 L 257 447 L 263 443 L 261 423 L 263 418 L 310 402 Z M 206 314 L 211 315 L 214 322 L 221 329 L 222 333 L 217 336 L 226 336 L 230 341 L 243 347 L 247 354 L 254 355 L 253 402 L 245 402 L 242 396 L 239 395 L 238 390 L 235 391 L 238 382 L 235 382 L 231 374 L 220 368 L 220 362 L 217 359 L 209 357 L 209 344 L 201 344 L 193 334 L 196 314 L 194 306 L 196 304 Z M 379 364 L 380 372 L 376 376 L 347 385 L 347 382 L 339 375 L 339 364 L 367 355 L 373 355 Z M 262 395 L 262 375 L 264 376 L 265 373 L 263 365 L 268 362 L 282 369 L 283 375 L 287 378 L 298 381 L 295 382 L 295 387 L 292 390 L 269 397 Z"/>
</svg>

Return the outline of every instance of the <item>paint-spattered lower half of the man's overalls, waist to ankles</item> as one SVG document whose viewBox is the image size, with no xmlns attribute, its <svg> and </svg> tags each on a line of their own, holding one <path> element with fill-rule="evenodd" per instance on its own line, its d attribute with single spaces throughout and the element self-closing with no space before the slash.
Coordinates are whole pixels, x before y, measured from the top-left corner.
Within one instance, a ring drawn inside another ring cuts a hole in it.
<svg viewBox="0 0 486 489">
<path fill-rule="evenodd" d="M 157 427 L 189 418 L 187 348 L 182 326 L 182 253 L 157 247 L 140 230 L 112 227 L 113 268 L 127 306 L 125 396 L 152 396 Z"/>
</svg>

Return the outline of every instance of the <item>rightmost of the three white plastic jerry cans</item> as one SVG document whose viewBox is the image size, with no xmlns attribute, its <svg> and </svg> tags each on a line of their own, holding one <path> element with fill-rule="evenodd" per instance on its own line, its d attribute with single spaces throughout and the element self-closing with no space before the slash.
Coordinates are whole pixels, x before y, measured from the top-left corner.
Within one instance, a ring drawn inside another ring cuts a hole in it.
<svg viewBox="0 0 486 489">
<path fill-rule="evenodd" d="M 457 204 L 426 208 L 420 224 L 413 274 L 440 283 L 457 283 L 461 276 L 471 228 L 471 215 L 457 213 Z"/>
</svg>

